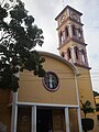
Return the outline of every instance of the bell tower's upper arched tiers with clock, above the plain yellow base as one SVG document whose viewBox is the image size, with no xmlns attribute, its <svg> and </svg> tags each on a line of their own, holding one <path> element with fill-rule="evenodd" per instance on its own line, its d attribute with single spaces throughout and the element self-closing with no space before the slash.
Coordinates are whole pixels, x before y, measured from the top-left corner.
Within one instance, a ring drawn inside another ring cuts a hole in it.
<svg viewBox="0 0 99 132">
<path fill-rule="evenodd" d="M 67 6 L 57 16 L 59 54 L 76 66 L 89 68 L 84 40 L 82 13 Z"/>
</svg>

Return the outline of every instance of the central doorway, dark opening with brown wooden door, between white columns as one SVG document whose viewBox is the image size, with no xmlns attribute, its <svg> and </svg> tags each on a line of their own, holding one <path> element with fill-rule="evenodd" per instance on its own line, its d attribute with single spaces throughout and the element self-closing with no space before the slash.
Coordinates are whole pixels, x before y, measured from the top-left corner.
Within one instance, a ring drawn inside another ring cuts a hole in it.
<svg viewBox="0 0 99 132">
<path fill-rule="evenodd" d="M 36 132 L 64 132 L 65 117 L 62 109 L 37 109 Z"/>
</svg>

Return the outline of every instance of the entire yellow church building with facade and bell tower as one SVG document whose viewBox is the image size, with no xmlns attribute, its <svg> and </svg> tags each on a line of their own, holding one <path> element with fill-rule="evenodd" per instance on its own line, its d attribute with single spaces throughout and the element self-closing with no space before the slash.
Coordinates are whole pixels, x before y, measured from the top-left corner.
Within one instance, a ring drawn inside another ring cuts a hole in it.
<svg viewBox="0 0 99 132">
<path fill-rule="evenodd" d="M 89 100 L 94 108 L 95 100 L 81 15 L 67 6 L 55 18 L 59 55 L 40 52 L 45 77 L 24 70 L 18 92 L 0 89 L 2 132 L 82 132 L 80 100 Z M 88 117 L 95 122 L 91 132 L 98 132 L 96 113 Z"/>
</svg>

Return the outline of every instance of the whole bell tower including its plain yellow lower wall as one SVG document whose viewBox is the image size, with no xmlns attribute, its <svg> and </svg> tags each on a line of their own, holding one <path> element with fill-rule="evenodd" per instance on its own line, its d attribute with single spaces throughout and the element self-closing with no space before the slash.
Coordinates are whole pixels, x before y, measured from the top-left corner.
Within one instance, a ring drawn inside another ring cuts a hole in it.
<svg viewBox="0 0 99 132">
<path fill-rule="evenodd" d="M 87 44 L 85 43 L 84 38 L 84 24 L 81 23 L 80 19 L 81 15 L 82 13 L 67 6 L 56 16 L 55 20 L 57 21 L 57 32 L 59 42 L 58 51 L 64 59 L 70 62 L 73 65 L 76 66 L 80 75 L 76 76 L 79 100 L 89 100 L 92 105 L 92 108 L 96 108 L 89 70 L 90 67 L 88 65 L 87 58 Z M 81 107 L 80 101 L 79 106 Z M 97 125 L 96 114 L 90 113 L 89 117 L 95 120 L 95 124 Z M 84 118 L 82 113 L 81 118 Z"/>
</svg>

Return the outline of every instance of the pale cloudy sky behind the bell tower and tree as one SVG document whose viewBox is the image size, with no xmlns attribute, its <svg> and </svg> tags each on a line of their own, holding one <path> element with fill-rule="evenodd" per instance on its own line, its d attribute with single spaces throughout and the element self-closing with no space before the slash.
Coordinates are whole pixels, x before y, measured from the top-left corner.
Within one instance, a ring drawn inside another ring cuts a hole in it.
<svg viewBox="0 0 99 132">
<path fill-rule="evenodd" d="M 35 23 L 43 30 L 44 44 L 37 47 L 58 54 L 55 16 L 68 4 L 82 13 L 85 42 L 91 67 L 92 88 L 99 92 L 99 0 L 23 0 Z"/>
</svg>

